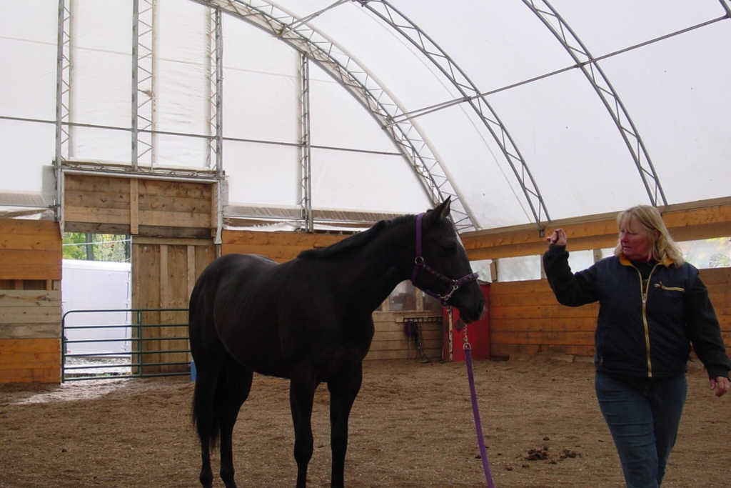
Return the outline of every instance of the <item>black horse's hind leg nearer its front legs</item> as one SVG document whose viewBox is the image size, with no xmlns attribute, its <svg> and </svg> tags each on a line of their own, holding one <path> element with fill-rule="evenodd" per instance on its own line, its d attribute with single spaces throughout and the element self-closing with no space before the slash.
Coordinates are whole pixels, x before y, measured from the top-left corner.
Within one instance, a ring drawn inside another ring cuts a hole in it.
<svg viewBox="0 0 731 488">
<path fill-rule="evenodd" d="M 254 372 L 241 366 L 231 356 L 227 356 L 218 378 L 216 386 L 216 418 L 219 419 L 220 450 L 221 450 L 221 480 L 226 488 L 236 488 L 233 466 L 233 427 L 238 418 L 238 411 L 249 397 L 251 380 Z"/>
</svg>

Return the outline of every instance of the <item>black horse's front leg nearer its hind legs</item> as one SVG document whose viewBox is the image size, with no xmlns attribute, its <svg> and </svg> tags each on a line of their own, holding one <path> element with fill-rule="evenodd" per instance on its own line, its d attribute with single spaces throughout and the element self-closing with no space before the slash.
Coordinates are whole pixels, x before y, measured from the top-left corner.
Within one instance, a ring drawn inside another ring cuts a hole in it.
<svg viewBox="0 0 731 488">
<path fill-rule="evenodd" d="M 297 488 L 307 484 L 307 465 L 312 459 L 314 438 L 312 437 L 312 404 L 317 379 L 314 371 L 306 368 L 292 374 L 289 383 L 289 405 L 295 424 L 295 461 L 297 462 Z"/>
</svg>

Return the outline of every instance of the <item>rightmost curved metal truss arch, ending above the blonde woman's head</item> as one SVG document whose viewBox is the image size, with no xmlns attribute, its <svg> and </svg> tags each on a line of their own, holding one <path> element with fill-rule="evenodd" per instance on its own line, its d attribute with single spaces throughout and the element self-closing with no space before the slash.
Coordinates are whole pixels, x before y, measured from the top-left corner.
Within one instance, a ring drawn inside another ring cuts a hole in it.
<svg viewBox="0 0 731 488">
<path fill-rule="evenodd" d="M 616 124 L 622 139 L 624 139 L 627 149 L 632 154 L 632 159 L 635 161 L 640 178 L 645 185 L 652 205 L 658 206 L 658 199 L 661 199 L 662 205 L 667 206 L 662 184 L 660 184 L 660 179 L 652 164 L 650 154 L 648 154 L 645 148 L 645 143 L 640 138 L 640 133 L 637 131 L 637 127 L 635 127 L 635 123 L 629 116 L 619 95 L 614 90 L 607 75 L 599 67 L 594 56 L 589 53 L 589 50 L 571 29 L 569 24 L 566 23 L 566 20 L 548 3 L 548 0 L 523 0 L 523 3 L 537 15 L 542 23 L 553 33 L 558 42 L 561 42 L 561 45 L 567 50 L 569 56 L 576 62 L 576 66 L 586 75 L 596 94 L 599 95 L 599 98 L 604 103 L 605 108 L 607 108 L 612 120 Z M 542 4 L 543 7 L 539 7 L 537 4 Z"/>
</svg>

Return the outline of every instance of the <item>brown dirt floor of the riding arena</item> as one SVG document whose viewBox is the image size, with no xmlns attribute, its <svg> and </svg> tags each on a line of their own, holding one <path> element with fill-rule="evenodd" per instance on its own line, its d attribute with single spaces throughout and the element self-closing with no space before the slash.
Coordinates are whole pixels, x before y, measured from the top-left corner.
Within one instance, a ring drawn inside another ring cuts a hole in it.
<svg viewBox="0 0 731 488">
<path fill-rule="evenodd" d="M 497 488 L 624 487 L 590 363 L 477 361 L 474 374 Z M 731 397 L 697 365 L 689 385 L 663 488 L 731 487 Z M 240 488 L 295 484 L 287 388 L 254 378 L 234 433 Z M 186 377 L 0 386 L 0 487 L 199 487 L 192 391 Z M 308 487 L 330 484 L 327 402 L 322 386 Z M 487 486 L 464 363 L 367 363 L 350 432 L 349 488 Z"/>
</svg>

